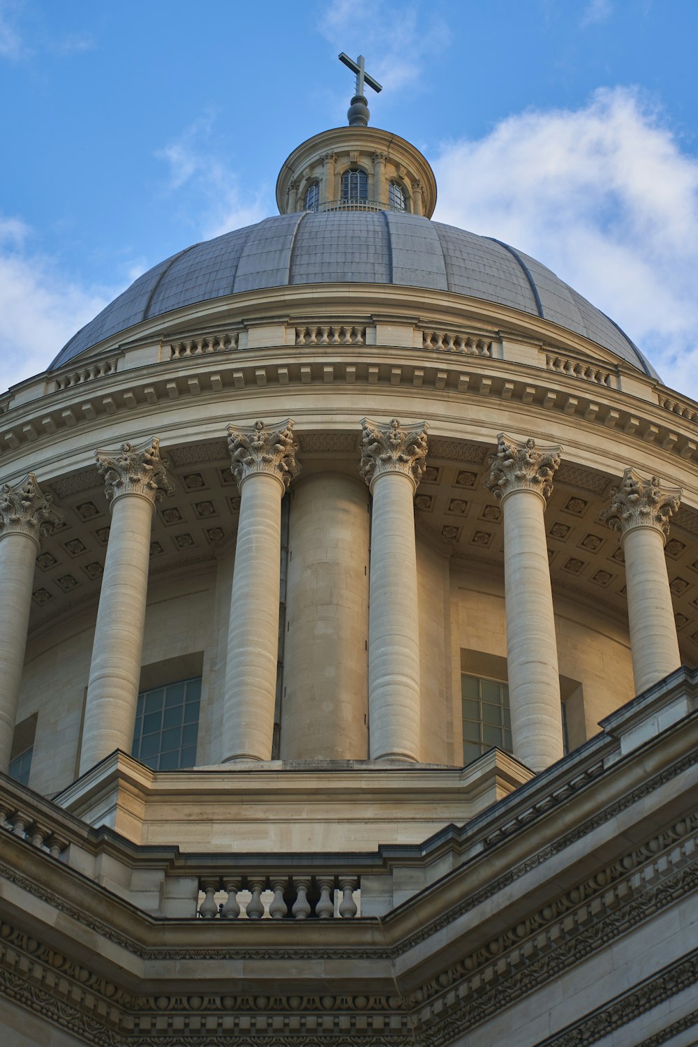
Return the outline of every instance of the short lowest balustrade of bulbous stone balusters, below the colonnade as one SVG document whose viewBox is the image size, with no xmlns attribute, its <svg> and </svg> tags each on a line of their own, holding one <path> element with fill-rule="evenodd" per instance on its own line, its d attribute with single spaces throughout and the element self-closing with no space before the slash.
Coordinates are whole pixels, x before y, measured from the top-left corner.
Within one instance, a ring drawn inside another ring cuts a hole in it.
<svg viewBox="0 0 698 1047">
<path fill-rule="evenodd" d="M 353 919 L 360 915 L 360 877 L 279 872 L 211 875 L 199 881 L 201 919 Z"/>
</svg>

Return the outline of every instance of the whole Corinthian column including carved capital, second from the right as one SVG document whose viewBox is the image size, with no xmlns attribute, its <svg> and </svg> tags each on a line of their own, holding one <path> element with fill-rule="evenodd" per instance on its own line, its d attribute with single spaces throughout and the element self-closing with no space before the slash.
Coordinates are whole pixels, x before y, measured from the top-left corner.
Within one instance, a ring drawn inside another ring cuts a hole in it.
<svg viewBox="0 0 698 1047">
<path fill-rule="evenodd" d="M 514 754 L 532 771 L 563 755 L 558 650 L 543 513 L 560 447 L 500 432 L 486 487 L 501 498 L 506 662 Z"/>
</svg>

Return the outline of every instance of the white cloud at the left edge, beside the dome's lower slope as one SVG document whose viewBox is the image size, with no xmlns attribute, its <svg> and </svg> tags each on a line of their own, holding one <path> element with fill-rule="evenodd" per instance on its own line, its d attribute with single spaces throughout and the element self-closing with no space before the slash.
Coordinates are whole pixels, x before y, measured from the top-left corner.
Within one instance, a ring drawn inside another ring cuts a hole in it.
<svg viewBox="0 0 698 1047">
<path fill-rule="evenodd" d="M 28 227 L 0 216 L 0 389 L 44 371 L 121 288 L 83 286 L 24 248 Z"/>
</svg>

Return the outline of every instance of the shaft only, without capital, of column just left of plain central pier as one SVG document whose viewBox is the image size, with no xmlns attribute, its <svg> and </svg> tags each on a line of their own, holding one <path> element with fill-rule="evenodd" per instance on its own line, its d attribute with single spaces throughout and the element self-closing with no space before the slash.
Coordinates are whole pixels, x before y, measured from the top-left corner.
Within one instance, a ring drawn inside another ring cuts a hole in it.
<svg viewBox="0 0 698 1047">
<path fill-rule="evenodd" d="M 271 759 L 278 650 L 284 487 L 253 473 L 241 487 L 223 717 L 224 760 Z"/>
</svg>

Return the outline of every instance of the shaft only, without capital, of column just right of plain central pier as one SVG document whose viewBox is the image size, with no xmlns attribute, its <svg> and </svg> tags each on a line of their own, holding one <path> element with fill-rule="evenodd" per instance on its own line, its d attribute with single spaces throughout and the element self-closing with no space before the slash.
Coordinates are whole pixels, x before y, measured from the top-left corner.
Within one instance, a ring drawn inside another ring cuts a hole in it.
<svg viewBox="0 0 698 1047">
<path fill-rule="evenodd" d="M 420 623 L 414 485 L 384 472 L 371 485 L 368 709 L 371 760 L 420 759 Z"/>
</svg>

